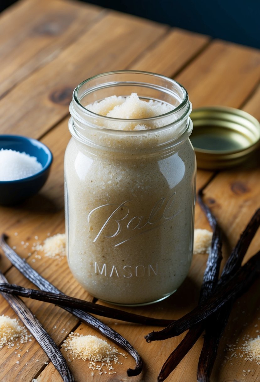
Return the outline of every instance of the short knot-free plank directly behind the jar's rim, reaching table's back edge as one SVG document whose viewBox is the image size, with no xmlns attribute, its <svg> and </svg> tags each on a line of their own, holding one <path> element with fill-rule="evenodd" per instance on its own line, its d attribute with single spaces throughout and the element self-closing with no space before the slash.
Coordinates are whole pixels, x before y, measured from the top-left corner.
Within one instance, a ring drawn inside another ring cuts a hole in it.
<svg viewBox="0 0 260 382">
<path fill-rule="evenodd" d="M 210 38 L 174 28 L 159 44 L 147 49 L 129 69 L 144 70 L 173 77 L 208 43 Z"/>
</svg>

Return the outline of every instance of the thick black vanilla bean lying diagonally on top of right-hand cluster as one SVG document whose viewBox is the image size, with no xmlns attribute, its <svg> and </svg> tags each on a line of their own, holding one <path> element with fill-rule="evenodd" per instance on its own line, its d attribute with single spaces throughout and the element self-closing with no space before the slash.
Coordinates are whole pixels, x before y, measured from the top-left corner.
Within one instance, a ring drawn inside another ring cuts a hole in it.
<svg viewBox="0 0 260 382">
<path fill-rule="evenodd" d="M 151 332 L 144 338 L 147 342 L 164 340 L 179 335 L 217 312 L 223 305 L 244 293 L 260 273 L 260 251 L 252 256 L 228 282 L 218 288 L 205 303 L 197 306 L 180 319 L 159 332 Z"/>
</svg>

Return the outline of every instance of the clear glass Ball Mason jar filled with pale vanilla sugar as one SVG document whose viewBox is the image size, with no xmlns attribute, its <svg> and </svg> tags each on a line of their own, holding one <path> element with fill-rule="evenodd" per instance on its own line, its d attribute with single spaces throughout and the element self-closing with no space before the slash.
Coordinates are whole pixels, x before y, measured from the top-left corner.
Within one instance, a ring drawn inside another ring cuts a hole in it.
<svg viewBox="0 0 260 382">
<path fill-rule="evenodd" d="M 171 112 L 133 123 L 84 106 L 137 92 Z M 170 296 L 193 254 L 196 159 L 186 90 L 159 74 L 117 71 L 73 93 L 64 162 L 67 258 L 76 280 L 109 303 L 145 305 Z M 120 126 L 120 129 L 118 129 Z"/>
</svg>

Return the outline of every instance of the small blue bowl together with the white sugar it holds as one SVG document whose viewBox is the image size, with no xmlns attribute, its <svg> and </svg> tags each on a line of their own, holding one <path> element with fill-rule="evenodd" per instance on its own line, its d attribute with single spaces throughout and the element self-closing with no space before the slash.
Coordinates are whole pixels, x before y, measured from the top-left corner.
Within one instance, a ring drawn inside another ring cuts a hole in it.
<svg viewBox="0 0 260 382">
<path fill-rule="evenodd" d="M 36 139 L 0 135 L 0 204 L 11 206 L 36 194 L 52 163 L 50 149 Z"/>
</svg>

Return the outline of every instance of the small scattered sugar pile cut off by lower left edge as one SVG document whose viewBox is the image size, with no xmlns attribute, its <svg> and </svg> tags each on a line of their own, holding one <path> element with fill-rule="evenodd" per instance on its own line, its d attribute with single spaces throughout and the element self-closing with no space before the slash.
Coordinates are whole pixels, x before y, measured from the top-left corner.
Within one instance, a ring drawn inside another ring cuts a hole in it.
<svg viewBox="0 0 260 382">
<path fill-rule="evenodd" d="M 27 334 L 26 327 L 20 326 L 17 319 L 8 316 L 0 316 L 0 348 L 8 345 L 9 348 L 14 346 L 14 342 L 18 340 L 21 343 L 28 341 L 31 335 Z M 19 347 L 18 347 L 19 349 Z M 18 357 L 20 354 L 18 354 Z"/>
</svg>

